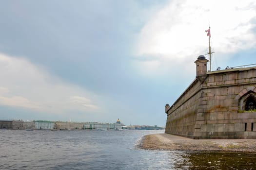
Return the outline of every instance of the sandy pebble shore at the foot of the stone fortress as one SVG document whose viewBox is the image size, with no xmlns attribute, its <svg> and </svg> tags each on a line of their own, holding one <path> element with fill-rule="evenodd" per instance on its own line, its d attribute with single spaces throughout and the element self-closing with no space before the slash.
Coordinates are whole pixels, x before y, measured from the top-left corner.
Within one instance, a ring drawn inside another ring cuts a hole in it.
<svg viewBox="0 0 256 170">
<path fill-rule="evenodd" d="M 143 137 L 143 149 L 199 152 L 256 153 L 256 139 L 191 139 L 169 134 Z"/>
</svg>

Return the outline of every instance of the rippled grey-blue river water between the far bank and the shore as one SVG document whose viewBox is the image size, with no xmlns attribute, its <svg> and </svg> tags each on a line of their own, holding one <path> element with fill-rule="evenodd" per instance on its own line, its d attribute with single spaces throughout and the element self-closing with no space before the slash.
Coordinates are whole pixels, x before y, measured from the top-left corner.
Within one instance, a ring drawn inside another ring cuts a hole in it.
<svg viewBox="0 0 256 170">
<path fill-rule="evenodd" d="M 142 150 L 163 131 L 0 131 L 1 170 L 254 170 L 255 154 Z"/>
</svg>

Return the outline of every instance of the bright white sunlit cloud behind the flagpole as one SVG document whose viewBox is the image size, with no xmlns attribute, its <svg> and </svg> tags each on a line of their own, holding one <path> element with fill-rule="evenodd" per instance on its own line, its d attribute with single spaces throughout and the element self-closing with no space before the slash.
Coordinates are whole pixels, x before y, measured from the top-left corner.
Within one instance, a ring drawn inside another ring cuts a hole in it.
<svg viewBox="0 0 256 170">
<path fill-rule="evenodd" d="M 168 60 L 193 62 L 207 52 L 208 36 L 204 31 L 209 22 L 217 53 L 247 50 L 256 45 L 255 18 L 255 0 L 170 0 L 141 30 L 136 55 L 158 56 L 153 59 L 161 63 L 158 68 L 165 67 L 163 63 Z M 143 67 L 148 61 L 137 63 L 142 72 L 154 69 Z"/>
</svg>

